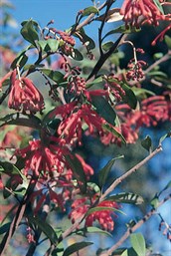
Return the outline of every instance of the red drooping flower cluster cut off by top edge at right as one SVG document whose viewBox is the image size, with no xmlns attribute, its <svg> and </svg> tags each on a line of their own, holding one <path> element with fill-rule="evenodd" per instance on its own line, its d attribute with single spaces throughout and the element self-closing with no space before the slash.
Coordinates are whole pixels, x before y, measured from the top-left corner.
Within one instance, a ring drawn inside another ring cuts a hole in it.
<svg viewBox="0 0 171 256">
<path fill-rule="evenodd" d="M 123 15 L 126 27 L 139 28 L 144 23 L 158 26 L 165 16 L 153 0 L 124 0 L 120 14 Z"/>
</svg>

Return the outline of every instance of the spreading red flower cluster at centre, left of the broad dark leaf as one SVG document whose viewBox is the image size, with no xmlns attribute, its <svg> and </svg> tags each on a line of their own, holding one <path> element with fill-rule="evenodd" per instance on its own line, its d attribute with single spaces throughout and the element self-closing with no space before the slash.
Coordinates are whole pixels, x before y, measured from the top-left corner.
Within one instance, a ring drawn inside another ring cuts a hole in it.
<svg viewBox="0 0 171 256">
<path fill-rule="evenodd" d="M 99 117 L 90 105 L 78 106 L 78 102 L 57 107 L 51 116 L 62 119 L 57 132 L 67 144 L 73 144 L 76 141 L 82 144 L 83 126 L 87 127 L 86 133 L 88 134 L 95 131 L 101 134 L 102 126 L 106 124 L 105 120 Z"/>
</svg>

